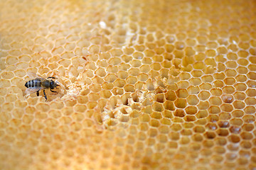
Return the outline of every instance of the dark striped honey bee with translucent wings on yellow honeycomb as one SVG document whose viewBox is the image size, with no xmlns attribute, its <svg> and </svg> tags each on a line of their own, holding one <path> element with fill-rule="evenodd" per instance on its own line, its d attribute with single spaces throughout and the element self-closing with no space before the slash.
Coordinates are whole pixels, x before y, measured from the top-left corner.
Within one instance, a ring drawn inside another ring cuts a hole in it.
<svg viewBox="0 0 256 170">
<path fill-rule="evenodd" d="M 30 77 L 32 80 L 29 80 L 26 82 L 25 86 L 26 91 L 25 93 L 27 95 L 29 94 L 33 94 L 36 92 L 36 96 L 39 96 L 39 91 L 43 90 L 43 94 L 46 98 L 47 101 L 47 97 L 46 97 L 46 91 L 45 89 L 50 89 L 50 91 L 54 92 L 54 93 L 58 93 L 57 91 L 53 91 L 53 89 L 57 89 L 57 86 L 60 86 L 59 84 L 57 84 L 57 82 L 53 81 L 53 79 L 57 79 L 55 77 L 48 77 L 47 79 L 44 79 L 43 77 L 38 76 L 37 74 L 28 72 L 28 77 Z"/>
</svg>

